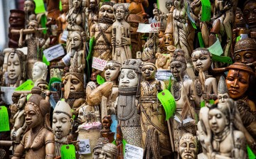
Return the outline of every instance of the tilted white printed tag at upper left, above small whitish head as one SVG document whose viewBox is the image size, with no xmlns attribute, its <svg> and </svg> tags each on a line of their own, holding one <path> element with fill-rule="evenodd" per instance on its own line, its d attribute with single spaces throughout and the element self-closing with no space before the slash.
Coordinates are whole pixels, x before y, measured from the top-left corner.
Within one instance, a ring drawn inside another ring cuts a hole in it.
<svg viewBox="0 0 256 159">
<path fill-rule="evenodd" d="M 48 61 L 54 60 L 57 57 L 65 55 L 65 51 L 61 44 L 54 45 L 46 50 L 43 50 L 43 54 L 46 56 Z"/>
</svg>

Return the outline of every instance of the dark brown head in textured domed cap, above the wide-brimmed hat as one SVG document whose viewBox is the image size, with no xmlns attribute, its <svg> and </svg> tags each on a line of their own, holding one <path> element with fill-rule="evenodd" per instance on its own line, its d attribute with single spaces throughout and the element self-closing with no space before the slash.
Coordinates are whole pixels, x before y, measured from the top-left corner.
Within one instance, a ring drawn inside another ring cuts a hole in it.
<svg viewBox="0 0 256 159">
<path fill-rule="evenodd" d="M 245 38 L 235 43 L 235 62 L 252 63 L 256 61 L 256 41 Z"/>
</svg>

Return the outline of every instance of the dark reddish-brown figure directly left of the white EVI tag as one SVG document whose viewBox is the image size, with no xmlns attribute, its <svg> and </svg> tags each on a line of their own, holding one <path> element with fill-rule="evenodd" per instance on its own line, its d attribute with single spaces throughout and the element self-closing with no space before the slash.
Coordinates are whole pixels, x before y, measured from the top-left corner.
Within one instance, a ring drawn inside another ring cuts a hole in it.
<svg viewBox="0 0 256 159">
<path fill-rule="evenodd" d="M 142 23 L 142 18 L 136 14 L 129 14 L 127 22 L 130 25 L 132 58 L 136 58 L 137 52 L 142 51 L 142 35 L 137 33 L 139 23 Z"/>
</svg>

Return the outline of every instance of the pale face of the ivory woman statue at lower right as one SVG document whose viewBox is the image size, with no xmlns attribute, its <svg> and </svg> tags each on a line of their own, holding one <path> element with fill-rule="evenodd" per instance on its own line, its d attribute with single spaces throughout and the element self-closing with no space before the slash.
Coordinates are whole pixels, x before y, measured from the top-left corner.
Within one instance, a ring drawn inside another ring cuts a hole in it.
<svg viewBox="0 0 256 159">
<path fill-rule="evenodd" d="M 213 133 L 220 133 L 224 130 L 225 126 L 228 126 L 228 119 L 225 114 L 218 109 L 211 109 L 208 115 L 210 130 Z"/>
</svg>

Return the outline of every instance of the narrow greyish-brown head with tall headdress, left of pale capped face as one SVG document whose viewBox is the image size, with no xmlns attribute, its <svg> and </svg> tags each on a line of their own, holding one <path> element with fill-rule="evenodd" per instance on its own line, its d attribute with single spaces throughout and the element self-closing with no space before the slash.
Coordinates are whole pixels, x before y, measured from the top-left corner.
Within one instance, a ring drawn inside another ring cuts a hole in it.
<svg viewBox="0 0 256 159">
<path fill-rule="evenodd" d="M 171 60 L 171 73 L 176 80 L 181 80 L 186 74 L 186 58 L 182 49 L 174 51 L 174 58 Z"/>
</svg>

